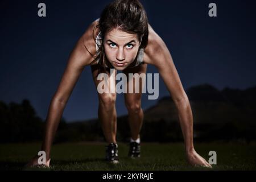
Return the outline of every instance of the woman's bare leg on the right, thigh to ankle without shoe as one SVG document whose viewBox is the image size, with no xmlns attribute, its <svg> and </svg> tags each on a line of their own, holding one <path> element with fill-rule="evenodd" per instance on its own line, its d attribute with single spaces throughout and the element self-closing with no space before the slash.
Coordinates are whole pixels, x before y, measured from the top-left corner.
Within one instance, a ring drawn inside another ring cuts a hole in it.
<svg viewBox="0 0 256 182">
<path fill-rule="evenodd" d="M 141 64 L 135 68 L 127 68 L 123 71 L 128 78 L 129 73 L 146 73 L 147 64 Z M 134 80 L 134 79 L 133 79 Z M 133 81 L 131 80 L 131 81 Z M 139 86 L 139 93 L 135 93 L 135 86 Z M 125 93 L 125 105 L 128 110 L 128 121 L 131 130 L 131 138 L 133 140 L 138 139 L 139 133 L 141 131 L 142 123 L 143 123 L 143 110 L 141 108 L 141 96 L 142 96 L 142 80 L 140 80 L 138 85 L 133 83 L 134 92 L 133 93 Z M 129 81 L 127 81 L 127 90 L 129 90 Z"/>
</svg>

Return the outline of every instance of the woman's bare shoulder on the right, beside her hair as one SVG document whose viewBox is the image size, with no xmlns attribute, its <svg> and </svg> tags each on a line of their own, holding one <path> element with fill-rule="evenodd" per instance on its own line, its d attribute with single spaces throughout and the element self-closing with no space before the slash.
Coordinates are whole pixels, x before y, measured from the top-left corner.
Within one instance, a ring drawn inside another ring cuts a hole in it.
<svg viewBox="0 0 256 182">
<path fill-rule="evenodd" d="M 163 47 L 165 46 L 162 38 L 154 31 L 148 24 L 148 44 L 144 49 L 143 61 L 147 64 L 154 64 L 154 57 L 162 54 Z"/>
</svg>

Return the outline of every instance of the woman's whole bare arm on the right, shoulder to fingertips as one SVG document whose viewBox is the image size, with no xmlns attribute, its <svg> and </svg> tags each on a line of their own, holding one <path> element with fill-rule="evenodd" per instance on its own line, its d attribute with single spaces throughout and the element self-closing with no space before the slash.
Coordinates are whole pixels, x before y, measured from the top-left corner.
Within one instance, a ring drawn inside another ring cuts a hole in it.
<svg viewBox="0 0 256 182">
<path fill-rule="evenodd" d="M 187 160 L 192 165 L 210 167 L 210 164 L 196 153 L 193 146 L 193 116 L 187 94 L 181 84 L 170 51 L 152 27 L 149 27 L 148 45 L 145 48 L 144 62 L 155 65 L 163 78 L 175 103 L 183 133 Z"/>
</svg>

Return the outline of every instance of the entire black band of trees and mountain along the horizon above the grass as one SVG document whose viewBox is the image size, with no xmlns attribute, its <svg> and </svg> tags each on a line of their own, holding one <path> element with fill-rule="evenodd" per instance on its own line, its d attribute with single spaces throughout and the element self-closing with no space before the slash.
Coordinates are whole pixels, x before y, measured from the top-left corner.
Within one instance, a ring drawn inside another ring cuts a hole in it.
<svg viewBox="0 0 256 182">
<path fill-rule="evenodd" d="M 256 86 L 244 90 L 218 90 L 203 84 L 192 86 L 185 92 L 192 109 L 196 140 L 256 140 Z M 119 116 L 117 120 L 117 140 L 129 140 L 128 116 Z M 28 100 L 9 105 L 0 101 L 0 143 L 40 140 L 44 122 Z M 144 110 L 141 138 L 145 142 L 183 140 L 177 109 L 170 96 L 161 98 L 154 106 Z M 73 122 L 61 118 L 55 137 L 55 143 L 103 140 L 98 118 Z"/>
</svg>

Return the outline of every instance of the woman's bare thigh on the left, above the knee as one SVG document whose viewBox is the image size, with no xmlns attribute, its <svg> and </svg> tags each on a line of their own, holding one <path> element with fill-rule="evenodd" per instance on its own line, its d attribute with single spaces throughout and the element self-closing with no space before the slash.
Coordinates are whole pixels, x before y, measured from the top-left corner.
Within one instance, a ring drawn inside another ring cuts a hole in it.
<svg viewBox="0 0 256 182">
<path fill-rule="evenodd" d="M 112 97 L 112 98 L 115 98 L 116 97 L 116 93 L 115 93 L 115 77 L 114 76 L 111 76 L 110 75 L 110 69 L 106 69 L 106 72 L 105 71 L 102 71 L 101 66 L 100 65 L 91 65 L 90 66 L 91 68 L 91 71 L 92 71 L 92 76 L 93 76 L 93 81 L 94 81 L 94 84 L 96 86 L 96 90 L 98 88 L 98 84 L 100 84 L 100 82 L 102 82 L 102 80 L 98 80 L 98 75 L 100 73 L 106 73 L 108 75 L 108 78 L 104 81 L 104 85 L 106 85 L 108 87 L 109 90 L 113 90 L 113 93 L 99 93 L 98 90 L 97 90 L 97 93 L 98 93 L 98 97 L 100 100 L 104 99 L 104 98 L 109 98 L 109 97 Z M 117 71 L 115 69 L 113 69 L 114 72 L 112 74 L 117 74 Z M 112 84 L 110 84 L 110 82 Z"/>
</svg>

